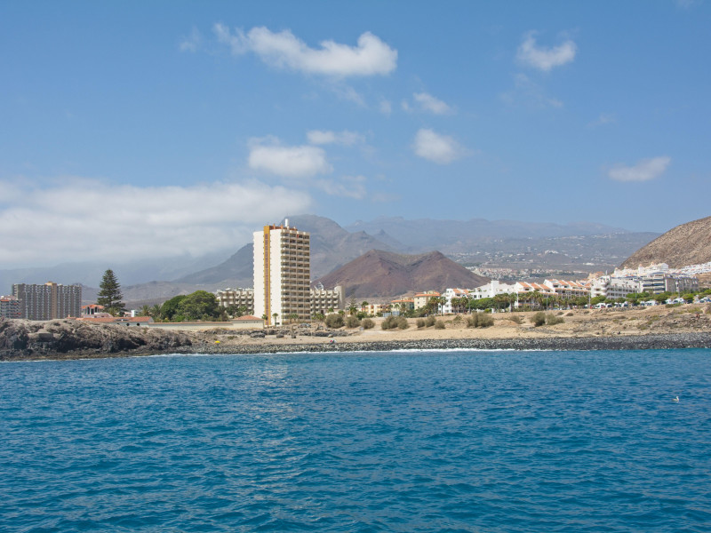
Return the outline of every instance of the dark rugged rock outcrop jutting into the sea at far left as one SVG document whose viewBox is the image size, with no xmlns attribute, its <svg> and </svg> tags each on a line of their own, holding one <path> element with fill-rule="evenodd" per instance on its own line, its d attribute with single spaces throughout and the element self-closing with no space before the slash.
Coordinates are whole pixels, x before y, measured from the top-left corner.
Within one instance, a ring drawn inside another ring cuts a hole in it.
<svg viewBox="0 0 711 533">
<path fill-rule="evenodd" d="M 177 331 L 0 318 L 0 361 L 164 354 L 190 346 L 193 340 Z"/>
</svg>

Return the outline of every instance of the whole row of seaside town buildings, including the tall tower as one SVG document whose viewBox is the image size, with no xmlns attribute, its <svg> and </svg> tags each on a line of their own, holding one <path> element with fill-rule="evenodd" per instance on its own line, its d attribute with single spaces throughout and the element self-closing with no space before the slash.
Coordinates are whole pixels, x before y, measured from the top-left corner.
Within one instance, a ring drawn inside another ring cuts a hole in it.
<svg viewBox="0 0 711 533">
<path fill-rule="evenodd" d="M 544 279 L 517 282 L 491 281 L 470 288 L 420 287 L 420 291 L 395 298 L 369 298 L 347 303 L 344 284 L 324 288 L 310 279 L 310 235 L 296 227 L 265 226 L 254 232 L 254 286 L 216 290 L 212 298 L 219 319 L 235 328 L 281 326 L 286 323 L 323 321 L 327 314 L 422 316 L 472 312 L 507 312 L 571 307 L 657 306 L 706 302 L 698 294 L 698 274 L 711 272 L 711 262 L 670 268 L 666 263 L 618 268 L 611 274 L 589 274 L 583 280 Z M 395 295 L 394 295 L 395 296 Z M 187 295 L 172 298 L 187 298 Z M 169 300 L 169 301 L 172 301 Z M 378 301 L 375 301 L 378 300 Z M 166 302 L 164 302 L 165 306 Z M 0 297 L 0 316 L 47 321 L 75 318 L 86 322 L 124 326 L 170 327 L 178 322 L 211 322 L 209 316 L 160 313 L 153 308 L 110 313 L 99 303 L 82 306 L 81 285 L 15 283 L 12 294 Z M 207 320 L 204 320 L 207 319 Z"/>
</svg>

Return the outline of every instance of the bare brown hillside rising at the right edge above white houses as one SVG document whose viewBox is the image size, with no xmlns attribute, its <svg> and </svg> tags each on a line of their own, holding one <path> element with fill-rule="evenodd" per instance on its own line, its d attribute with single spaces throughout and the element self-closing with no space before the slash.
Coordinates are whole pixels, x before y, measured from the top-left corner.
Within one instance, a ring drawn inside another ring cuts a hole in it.
<svg viewBox="0 0 711 533">
<path fill-rule="evenodd" d="M 635 251 L 622 267 L 636 268 L 651 263 L 667 263 L 681 268 L 711 261 L 711 217 L 693 220 L 654 239 Z"/>
</svg>

